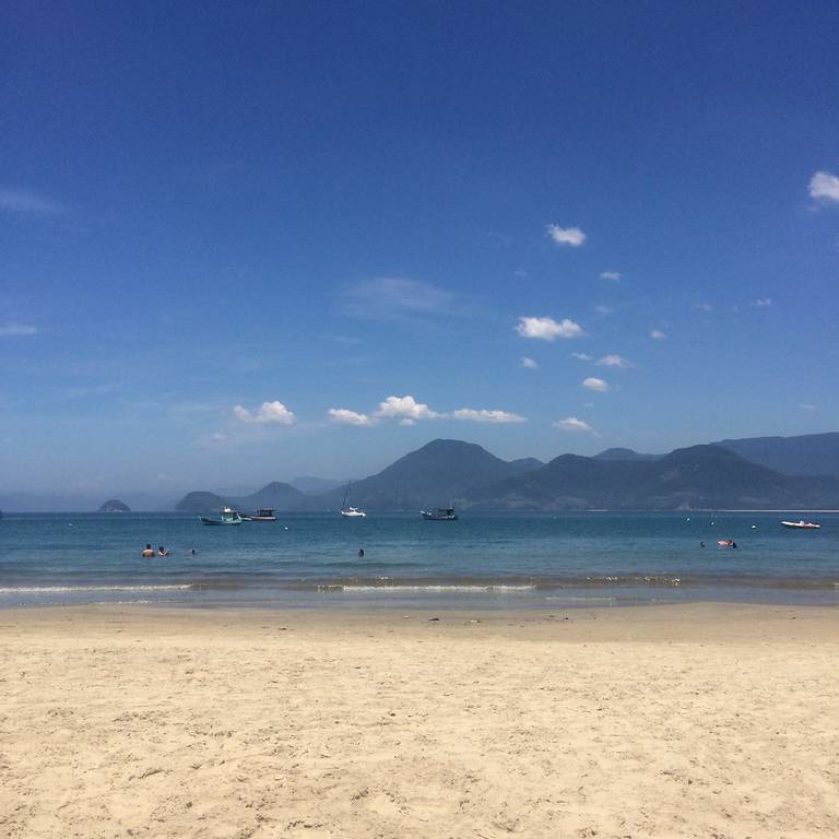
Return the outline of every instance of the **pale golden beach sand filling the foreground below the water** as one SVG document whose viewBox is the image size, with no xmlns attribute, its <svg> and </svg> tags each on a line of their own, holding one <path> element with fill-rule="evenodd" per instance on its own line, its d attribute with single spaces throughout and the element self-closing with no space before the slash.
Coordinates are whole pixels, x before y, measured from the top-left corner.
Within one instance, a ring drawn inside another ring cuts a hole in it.
<svg viewBox="0 0 839 839">
<path fill-rule="evenodd" d="M 839 836 L 838 610 L 436 615 L 1 613 L 0 837 Z"/>
</svg>

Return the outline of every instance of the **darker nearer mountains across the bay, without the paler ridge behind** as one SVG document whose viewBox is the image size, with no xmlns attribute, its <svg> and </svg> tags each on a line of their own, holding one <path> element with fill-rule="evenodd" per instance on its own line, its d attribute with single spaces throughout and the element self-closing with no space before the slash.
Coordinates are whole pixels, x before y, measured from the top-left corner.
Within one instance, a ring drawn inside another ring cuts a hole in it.
<svg viewBox="0 0 839 839">
<path fill-rule="evenodd" d="M 483 510 L 816 509 L 839 507 L 839 475 L 783 474 L 722 445 L 669 454 L 611 449 L 593 458 L 560 454 L 548 463 L 505 461 L 461 440 L 433 440 L 352 485 L 351 503 L 369 510 L 456 506 Z M 307 496 L 269 484 L 244 498 L 190 493 L 177 509 L 227 504 L 283 511 L 339 509 L 343 489 Z"/>
</svg>

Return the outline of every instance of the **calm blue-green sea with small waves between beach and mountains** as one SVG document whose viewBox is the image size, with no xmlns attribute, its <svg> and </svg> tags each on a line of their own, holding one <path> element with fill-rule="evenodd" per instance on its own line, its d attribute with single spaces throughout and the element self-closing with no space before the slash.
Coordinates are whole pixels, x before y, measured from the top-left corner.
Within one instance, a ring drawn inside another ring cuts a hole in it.
<svg viewBox="0 0 839 839">
<path fill-rule="evenodd" d="M 785 530 L 782 518 L 801 513 L 306 513 L 239 527 L 179 513 L 5 513 L 0 607 L 839 604 L 839 515 L 805 517 L 820 531 Z M 170 555 L 141 558 L 147 542 Z"/>
</svg>

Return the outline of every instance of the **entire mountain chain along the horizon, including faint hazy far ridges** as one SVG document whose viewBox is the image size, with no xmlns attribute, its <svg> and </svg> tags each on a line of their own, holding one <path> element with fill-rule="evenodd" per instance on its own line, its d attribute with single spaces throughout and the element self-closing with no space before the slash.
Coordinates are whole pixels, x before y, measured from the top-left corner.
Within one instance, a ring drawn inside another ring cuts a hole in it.
<svg viewBox="0 0 839 839">
<path fill-rule="evenodd" d="M 729 456 L 729 457 L 726 457 Z M 839 507 L 839 432 L 797 437 L 726 439 L 669 454 L 612 448 L 583 458 L 560 454 L 505 461 L 475 444 L 434 440 L 352 485 L 350 504 L 370 510 L 453 504 L 477 509 L 673 509 Z M 317 477 L 243 489 L 189 493 L 177 504 L 118 493 L 134 510 L 204 512 L 335 510 L 344 484 Z M 0 493 L 8 511 L 96 510 L 102 498 Z"/>
</svg>

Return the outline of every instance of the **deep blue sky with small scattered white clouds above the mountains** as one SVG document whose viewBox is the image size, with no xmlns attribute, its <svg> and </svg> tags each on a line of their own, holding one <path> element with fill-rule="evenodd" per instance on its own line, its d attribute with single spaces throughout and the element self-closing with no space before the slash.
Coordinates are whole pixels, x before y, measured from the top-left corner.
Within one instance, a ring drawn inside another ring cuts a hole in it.
<svg viewBox="0 0 839 839">
<path fill-rule="evenodd" d="M 3 3 L 0 489 L 837 428 L 835 3 Z"/>
</svg>

